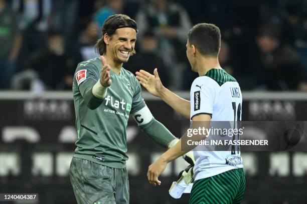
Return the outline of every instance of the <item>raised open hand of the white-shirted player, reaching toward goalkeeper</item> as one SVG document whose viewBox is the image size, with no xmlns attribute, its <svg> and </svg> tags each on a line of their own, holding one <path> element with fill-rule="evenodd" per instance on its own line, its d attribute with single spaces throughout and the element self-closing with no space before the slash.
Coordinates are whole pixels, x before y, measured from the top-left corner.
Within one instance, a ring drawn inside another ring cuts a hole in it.
<svg viewBox="0 0 307 204">
<path fill-rule="evenodd" d="M 144 86 L 149 93 L 160 97 L 160 93 L 164 88 L 158 73 L 158 69 L 155 68 L 154 75 L 148 73 L 145 70 L 139 70 L 135 72 L 136 78 L 139 80 L 139 83 Z"/>
</svg>

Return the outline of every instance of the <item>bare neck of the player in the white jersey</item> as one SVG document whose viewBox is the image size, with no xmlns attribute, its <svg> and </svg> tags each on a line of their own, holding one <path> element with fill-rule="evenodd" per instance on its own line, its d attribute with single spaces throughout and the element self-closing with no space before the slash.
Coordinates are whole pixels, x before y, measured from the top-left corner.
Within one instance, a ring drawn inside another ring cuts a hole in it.
<svg viewBox="0 0 307 204">
<path fill-rule="evenodd" d="M 201 57 L 197 60 L 196 67 L 200 76 L 205 75 L 212 68 L 222 68 L 217 57 Z"/>
</svg>

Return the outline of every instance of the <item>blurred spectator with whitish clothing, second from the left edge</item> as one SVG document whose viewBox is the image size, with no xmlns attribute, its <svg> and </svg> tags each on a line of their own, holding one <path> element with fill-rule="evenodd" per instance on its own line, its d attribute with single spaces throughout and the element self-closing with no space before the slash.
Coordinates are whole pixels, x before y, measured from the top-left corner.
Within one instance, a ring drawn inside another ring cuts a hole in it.
<svg viewBox="0 0 307 204">
<path fill-rule="evenodd" d="M 19 67 L 24 67 L 30 54 L 43 48 L 45 33 L 49 27 L 52 0 L 13 0 L 13 8 L 17 12 L 19 27 L 24 32 L 19 58 Z"/>
</svg>

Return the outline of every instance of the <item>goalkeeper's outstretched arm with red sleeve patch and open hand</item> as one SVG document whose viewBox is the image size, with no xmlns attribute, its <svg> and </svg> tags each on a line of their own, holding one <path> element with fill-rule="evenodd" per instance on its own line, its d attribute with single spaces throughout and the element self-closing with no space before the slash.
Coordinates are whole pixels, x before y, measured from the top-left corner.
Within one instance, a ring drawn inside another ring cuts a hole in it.
<svg viewBox="0 0 307 204">
<path fill-rule="evenodd" d="M 107 88 L 111 85 L 111 68 L 103 56 L 99 58 L 102 63 L 100 74 L 90 62 L 80 63 L 75 74 L 80 93 L 90 109 L 96 109 L 102 103 Z"/>
</svg>

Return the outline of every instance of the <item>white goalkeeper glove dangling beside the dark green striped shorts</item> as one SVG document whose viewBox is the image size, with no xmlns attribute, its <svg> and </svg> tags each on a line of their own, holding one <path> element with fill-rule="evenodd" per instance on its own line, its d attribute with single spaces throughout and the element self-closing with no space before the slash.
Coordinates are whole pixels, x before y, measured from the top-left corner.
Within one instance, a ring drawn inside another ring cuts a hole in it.
<svg viewBox="0 0 307 204">
<path fill-rule="evenodd" d="M 182 193 L 190 184 L 193 184 L 193 166 L 189 165 L 185 170 L 182 170 L 178 175 L 178 180 L 174 181 L 169 189 L 169 193 L 174 198 L 180 198 Z"/>
</svg>

